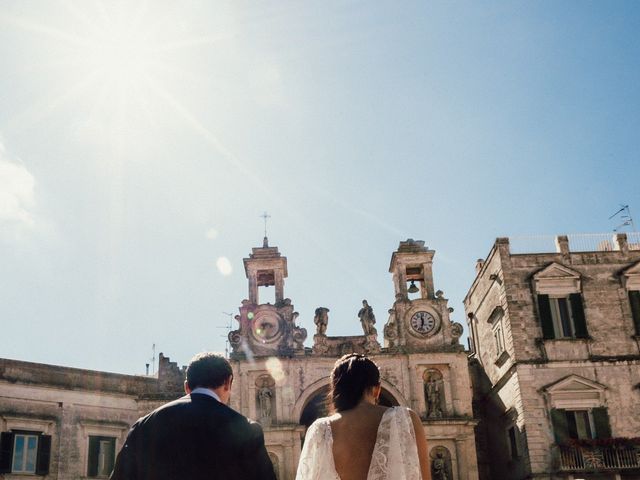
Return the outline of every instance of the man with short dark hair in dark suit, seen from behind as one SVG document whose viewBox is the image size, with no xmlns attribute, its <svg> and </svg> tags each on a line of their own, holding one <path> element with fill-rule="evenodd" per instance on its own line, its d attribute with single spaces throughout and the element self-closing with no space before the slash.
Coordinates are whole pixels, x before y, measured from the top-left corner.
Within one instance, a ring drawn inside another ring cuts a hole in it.
<svg viewBox="0 0 640 480">
<path fill-rule="evenodd" d="M 227 406 L 232 382 L 224 357 L 193 357 L 187 395 L 131 427 L 111 480 L 275 480 L 260 425 Z"/>
</svg>

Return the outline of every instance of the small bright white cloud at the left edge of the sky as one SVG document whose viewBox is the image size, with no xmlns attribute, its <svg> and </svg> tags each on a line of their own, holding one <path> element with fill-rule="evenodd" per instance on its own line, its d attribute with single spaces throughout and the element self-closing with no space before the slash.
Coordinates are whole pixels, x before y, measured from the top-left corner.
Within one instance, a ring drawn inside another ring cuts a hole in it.
<svg viewBox="0 0 640 480">
<path fill-rule="evenodd" d="M 9 160 L 0 143 L 0 225 L 33 228 L 35 179 L 20 163 Z"/>
</svg>

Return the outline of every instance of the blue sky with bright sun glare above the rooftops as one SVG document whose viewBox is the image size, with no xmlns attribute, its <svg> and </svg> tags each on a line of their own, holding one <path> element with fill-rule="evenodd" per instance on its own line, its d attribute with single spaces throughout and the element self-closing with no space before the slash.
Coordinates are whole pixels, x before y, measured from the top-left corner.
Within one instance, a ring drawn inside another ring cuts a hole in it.
<svg viewBox="0 0 640 480">
<path fill-rule="evenodd" d="M 409 237 L 464 323 L 496 237 L 640 224 L 638 31 L 632 1 L 3 1 L 0 356 L 222 351 L 265 210 L 309 337 L 363 298 L 381 330 Z"/>
</svg>

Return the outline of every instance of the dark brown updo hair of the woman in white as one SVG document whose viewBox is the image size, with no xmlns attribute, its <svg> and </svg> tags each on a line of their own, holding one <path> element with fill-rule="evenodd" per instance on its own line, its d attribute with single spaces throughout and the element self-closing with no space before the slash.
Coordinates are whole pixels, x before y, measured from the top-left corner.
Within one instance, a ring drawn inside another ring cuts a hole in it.
<svg viewBox="0 0 640 480">
<path fill-rule="evenodd" d="M 378 366 L 364 355 L 344 355 L 333 366 L 329 407 L 342 412 L 355 407 L 367 388 L 380 385 Z"/>
</svg>

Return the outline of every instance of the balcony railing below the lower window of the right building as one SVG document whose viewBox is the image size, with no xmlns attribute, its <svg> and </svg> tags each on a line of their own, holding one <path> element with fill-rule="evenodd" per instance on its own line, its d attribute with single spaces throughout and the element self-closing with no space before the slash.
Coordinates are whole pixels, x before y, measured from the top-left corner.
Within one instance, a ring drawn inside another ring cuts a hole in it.
<svg viewBox="0 0 640 480">
<path fill-rule="evenodd" d="M 559 446 L 560 471 L 640 469 L 640 445 Z"/>
</svg>

